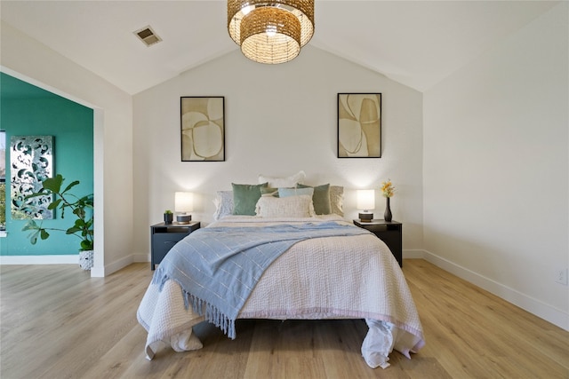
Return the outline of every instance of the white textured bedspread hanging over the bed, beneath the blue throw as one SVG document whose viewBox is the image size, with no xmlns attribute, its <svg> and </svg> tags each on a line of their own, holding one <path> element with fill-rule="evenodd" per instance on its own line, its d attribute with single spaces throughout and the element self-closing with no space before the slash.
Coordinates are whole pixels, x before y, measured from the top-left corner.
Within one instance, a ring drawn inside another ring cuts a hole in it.
<svg viewBox="0 0 569 379">
<path fill-rule="evenodd" d="M 335 218 L 260 222 L 259 217 L 225 217 L 212 225 L 330 219 Z M 344 222 L 340 217 L 337 221 Z M 148 331 L 148 359 L 154 357 L 161 343 L 170 344 L 175 351 L 202 347 L 192 334 L 192 327 L 204 318 L 191 307 L 185 308 L 180 285 L 173 280 L 166 282 L 161 292 L 151 284 L 137 316 Z M 424 344 L 421 321 L 403 272 L 385 243 L 372 233 L 295 244 L 268 267 L 238 319 L 365 319 L 370 330 L 362 344 L 362 354 L 370 367 L 388 367 L 393 349 L 410 358 L 409 353 Z"/>
</svg>

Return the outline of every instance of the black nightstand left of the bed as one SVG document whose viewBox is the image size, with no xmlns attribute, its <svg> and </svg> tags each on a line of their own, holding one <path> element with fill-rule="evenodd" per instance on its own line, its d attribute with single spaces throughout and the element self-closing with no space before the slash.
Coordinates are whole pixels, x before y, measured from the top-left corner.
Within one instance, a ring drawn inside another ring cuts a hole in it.
<svg viewBox="0 0 569 379">
<path fill-rule="evenodd" d="M 166 253 L 178 241 L 199 227 L 199 221 L 191 221 L 189 224 L 160 223 L 150 226 L 150 270 L 154 270 L 154 266 L 162 262 Z"/>
</svg>

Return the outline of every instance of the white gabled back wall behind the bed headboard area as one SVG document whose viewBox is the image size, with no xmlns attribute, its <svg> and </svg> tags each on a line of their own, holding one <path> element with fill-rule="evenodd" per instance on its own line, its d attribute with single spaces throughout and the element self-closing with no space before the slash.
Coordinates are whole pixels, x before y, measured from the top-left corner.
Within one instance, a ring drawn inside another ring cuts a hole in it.
<svg viewBox="0 0 569 379">
<path fill-rule="evenodd" d="M 337 93 L 381 92 L 383 155 L 338 159 Z M 180 162 L 180 96 L 224 96 L 226 162 Z M 422 96 L 383 75 L 306 46 L 297 59 L 267 66 L 236 50 L 140 92 L 134 114 L 134 236 L 137 260 L 149 256 L 149 225 L 173 208 L 173 193 L 197 194 L 193 218 L 212 221 L 215 191 L 259 174 L 305 170 L 307 183 L 345 186 L 347 219 L 357 216 L 356 188 L 391 178 L 394 219 L 404 225 L 404 250 L 422 247 Z M 385 200 L 379 191 L 376 217 Z M 405 251 L 404 251 L 405 255 Z"/>
</svg>

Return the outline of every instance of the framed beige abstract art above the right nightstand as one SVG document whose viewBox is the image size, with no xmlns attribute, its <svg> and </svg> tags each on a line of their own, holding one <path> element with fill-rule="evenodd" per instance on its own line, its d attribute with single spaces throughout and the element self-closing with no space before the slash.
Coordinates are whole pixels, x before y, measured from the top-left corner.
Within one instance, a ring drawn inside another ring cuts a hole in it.
<svg viewBox="0 0 569 379">
<path fill-rule="evenodd" d="M 338 93 L 338 158 L 381 158 L 381 93 Z"/>
</svg>

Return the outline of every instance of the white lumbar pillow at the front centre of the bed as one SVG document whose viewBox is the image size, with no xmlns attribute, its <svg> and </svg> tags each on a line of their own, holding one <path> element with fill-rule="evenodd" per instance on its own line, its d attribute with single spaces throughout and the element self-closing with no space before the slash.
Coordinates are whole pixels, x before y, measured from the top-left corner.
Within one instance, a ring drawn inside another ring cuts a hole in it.
<svg viewBox="0 0 569 379">
<path fill-rule="evenodd" d="M 313 217 L 312 196 L 261 196 L 255 213 L 260 217 Z"/>
</svg>

